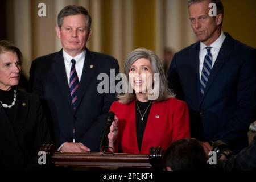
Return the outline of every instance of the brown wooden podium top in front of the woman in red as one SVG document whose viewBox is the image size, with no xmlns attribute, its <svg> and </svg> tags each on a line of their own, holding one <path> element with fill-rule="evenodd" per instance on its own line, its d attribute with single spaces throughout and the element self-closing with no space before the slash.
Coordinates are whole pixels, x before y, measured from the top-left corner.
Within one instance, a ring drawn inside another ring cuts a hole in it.
<svg viewBox="0 0 256 182">
<path fill-rule="evenodd" d="M 149 154 L 64 153 L 56 152 L 52 144 L 44 144 L 47 163 L 55 167 L 98 167 L 102 169 L 149 168 L 157 169 L 162 163 L 161 147 L 151 147 Z"/>
</svg>

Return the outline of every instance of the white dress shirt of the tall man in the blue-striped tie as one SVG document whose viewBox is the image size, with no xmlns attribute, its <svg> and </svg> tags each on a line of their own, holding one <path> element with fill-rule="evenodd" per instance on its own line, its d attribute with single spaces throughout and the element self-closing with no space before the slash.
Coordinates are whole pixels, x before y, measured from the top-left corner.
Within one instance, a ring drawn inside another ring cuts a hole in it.
<svg viewBox="0 0 256 182">
<path fill-rule="evenodd" d="M 200 79 L 201 79 L 201 75 L 202 75 L 202 69 L 203 69 L 203 64 L 204 64 L 204 57 L 205 55 L 207 55 L 207 49 L 205 47 L 212 47 L 212 49 L 210 49 L 210 53 L 212 53 L 212 68 L 213 65 L 217 59 L 218 56 L 218 52 L 220 52 L 220 48 L 222 46 L 222 43 L 224 42 L 226 36 L 223 33 L 223 31 L 221 31 L 221 35 L 218 37 L 217 40 L 215 40 L 212 44 L 210 44 L 209 46 L 206 46 L 203 42 L 200 42 L 200 52 L 199 52 L 199 74 L 200 74 Z"/>
</svg>

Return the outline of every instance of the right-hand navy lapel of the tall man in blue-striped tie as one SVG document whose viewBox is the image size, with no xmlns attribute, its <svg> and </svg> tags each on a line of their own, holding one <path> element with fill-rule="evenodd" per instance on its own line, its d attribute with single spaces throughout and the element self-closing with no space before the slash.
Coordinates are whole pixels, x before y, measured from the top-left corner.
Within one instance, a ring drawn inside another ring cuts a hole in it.
<svg viewBox="0 0 256 182">
<path fill-rule="evenodd" d="M 207 92 L 208 92 L 210 86 L 212 85 L 214 78 L 217 76 L 218 72 L 220 71 L 220 69 L 222 68 L 224 63 L 226 63 L 226 61 L 228 61 L 229 55 L 232 52 L 232 49 L 233 49 L 233 46 L 232 46 L 233 41 L 232 40 L 233 39 L 229 34 L 225 34 L 225 35 L 226 35 L 226 38 L 225 38 L 224 42 L 222 43 L 220 52 L 218 52 L 218 56 L 213 65 L 212 72 L 210 72 L 210 77 L 207 82 L 207 87 L 205 88 L 205 93 L 204 93 L 203 97 L 201 98 L 201 103 L 203 102 L 205 96 L 207 95 Z"/>
</svg>

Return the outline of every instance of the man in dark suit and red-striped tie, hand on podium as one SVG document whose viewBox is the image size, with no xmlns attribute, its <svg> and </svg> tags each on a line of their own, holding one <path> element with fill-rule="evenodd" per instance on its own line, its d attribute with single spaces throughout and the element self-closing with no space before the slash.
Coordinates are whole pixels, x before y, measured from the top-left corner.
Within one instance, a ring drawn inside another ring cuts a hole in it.
<svg viewBox="0 0 256 182">
<path fill-rule="evenodd" d="M 115 100 L 115 93 L 99 92 L 97 77 L 105 73 L 110 80 L 110 69 L 117 74 L 119 65 L 85 47 L 90 24 L 84 7 L 64 7 L 56 27 L 63 49 L 34 60 L 30 70 L 32 90 L 46 101 L 56 146 L 63 152 L 100 151 L 105 117 Z"/>
</svg>

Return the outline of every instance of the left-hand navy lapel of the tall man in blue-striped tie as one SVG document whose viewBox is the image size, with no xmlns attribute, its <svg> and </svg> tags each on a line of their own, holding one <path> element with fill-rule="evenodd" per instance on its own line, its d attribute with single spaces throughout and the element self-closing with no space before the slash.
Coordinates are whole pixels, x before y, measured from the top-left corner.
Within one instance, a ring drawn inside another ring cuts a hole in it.
<svg viewBox="0 0 256 182">
<path fill-rule="evenodd" d="M 193 84 L 194 88 L 191 88 L 195 92 L 196 96 L 196 105 L 199 106 L 201 93 L 200 93 L 200 75 L 199 75 L 199 52 L 200 52 L 200 42 L 197 42 L 192 46 L 192 49 L 189 50 L 189 64 L 191 64 L 192 72 L 195 74 L 191 74 L 192 78 L 189 78 Z"/>
</svg>

